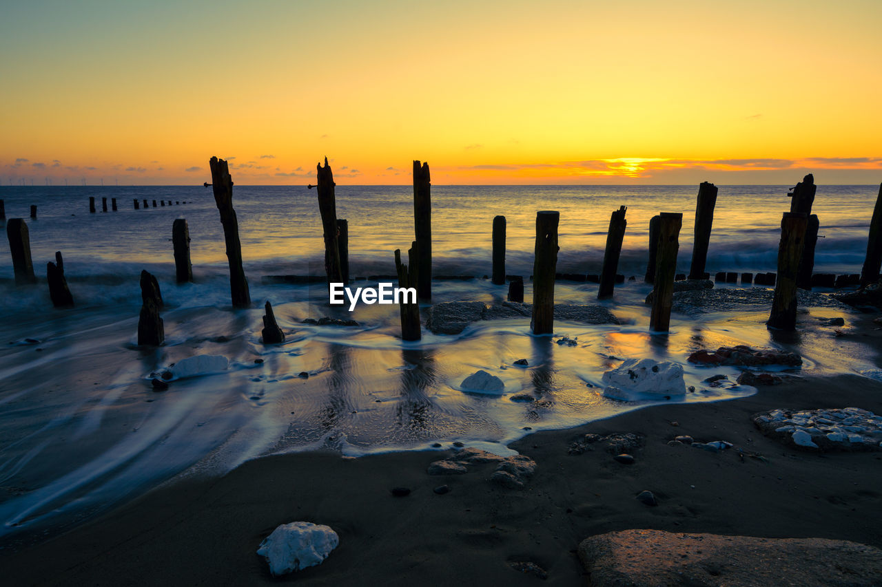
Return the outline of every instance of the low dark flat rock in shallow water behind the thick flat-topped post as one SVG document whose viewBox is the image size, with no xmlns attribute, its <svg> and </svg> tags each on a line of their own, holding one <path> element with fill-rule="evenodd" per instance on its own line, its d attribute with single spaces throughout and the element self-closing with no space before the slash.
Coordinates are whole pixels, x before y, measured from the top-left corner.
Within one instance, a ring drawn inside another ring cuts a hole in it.
<svg viewBox="0 0 882 587">
<path fill-rule="evenodd" d="M 471 323 L 505 318 L 529 318 L 532 314 L 533 304 L 517 301 L 504 301 L 493 306 L 483 301 L 444 301 L 429 308 L 426 326 L 435 334 L 459 334 Z M 620 323 L 616 316 L 602 306 L 557 304 L 554 307 L 554 317 L 555 320 L 586 324 Z"/>
</svg>

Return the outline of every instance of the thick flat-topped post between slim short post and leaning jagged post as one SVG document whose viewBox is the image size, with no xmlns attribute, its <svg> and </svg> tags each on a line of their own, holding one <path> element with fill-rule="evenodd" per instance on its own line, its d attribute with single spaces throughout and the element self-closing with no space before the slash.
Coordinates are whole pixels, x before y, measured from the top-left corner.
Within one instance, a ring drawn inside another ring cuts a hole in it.
<svg viewBox="0 0 882 587">
<path fill-rule="evenodd" d="M 533 260 L 533 317 L 530 330 L 534 334 L 554 332 L 554 277 L 557 271 L 557 224 L 560 212 L 536 212 L 536 245 Z"/>
</svg>

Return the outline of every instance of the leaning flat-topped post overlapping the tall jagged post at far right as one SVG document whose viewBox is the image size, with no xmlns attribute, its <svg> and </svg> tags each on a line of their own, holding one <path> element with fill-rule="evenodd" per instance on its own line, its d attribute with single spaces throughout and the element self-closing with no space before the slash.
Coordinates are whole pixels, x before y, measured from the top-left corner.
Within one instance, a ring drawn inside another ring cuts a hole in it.
<svg viewBox="0 0 882 587">
<path fill-rule="evenodd" d="M 774 286 L 772 312 L 766 324 L 784 331 L 796 329 L 796 271 L 803 257 L 805 212 L 784 212 L 778 244 L 778 281 Z"/>
</svg>

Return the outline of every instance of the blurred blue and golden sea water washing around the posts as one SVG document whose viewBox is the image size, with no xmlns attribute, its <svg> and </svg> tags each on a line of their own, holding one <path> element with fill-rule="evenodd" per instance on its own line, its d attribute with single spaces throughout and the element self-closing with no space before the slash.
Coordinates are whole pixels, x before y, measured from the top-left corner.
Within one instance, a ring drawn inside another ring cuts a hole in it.
<svg viewBox="0 0 882 587">
<path fill-rule="evenodd" d="M 721 186 L 707 271 L 775 271 L 781 212 L 788 186 Z M 819 186 L 816 271 L 859 272 L 875 186 Z M 479 279 L 437 281 L 434 301 L 505 299 L 493 286 L 490 228 L 508 219 L 507 273 L 532 272 L 537 210 L 561 212 L 557 271 L 598 273 L 609 214 L 628 206 L 619 272 L 646 271 L 647 227 L 658 212 L 684 212 L 678 271 L 691 257 L 697 186 L 445 187 L 432 189 L 436 275 Z M 88 197 L 116 197 L 119 212 L 90 214 Z M 325 286 L 273 283 L 265 276 L 322 275 L 323 241 L 316 194 L 303 187 L 236 186 L 245 272 L 254 308 L 233 310 L 223 234 L 210 189 L 202 187 L 0 188 L 7 218 L 28 219 L 34 267 L 64 253 L 77 303 L 51 307 L 44 282 L 15 287 L 8 243 L 0 239 L 0 538 L 51 534 L 172 479 L 228 471 L 243 460 L 288 450 L 327 448 L 346 455 L 432 450 L 462 441 L 505 450 L 529 430 L 572 427 L 647 403 L 599 393 L 602 373 L 626 358 L 683 363 L 684 401 L 754 393 L 744 386 L 708 389 L 706 369 L 685 364 L 699 347 L 746 343 L 782 346 L 805 358 L 805 369 L 868 372 L 875 358 L 833 344 L 832 332 L 804 329 L 781 340 L 766 331 L 767 308 L 674 316 L 671 333 L 648 333 L 649 286 L 617 286 L 604 301 L 621 325 L 558 322 L 556 338 L 529 334 L 529 320 L 480 323 L 460 335 L 424 332 L 402 343 L 396 306 L 360 306 L 359 326 L 304 324 L 307 317 L 350 317 L 328 307 Z M 132 200 L 185 201 L 134 210 Z M 338 217 L 348 219 L 350 274 L 394 272 L 394 249 L 413 240 L 412 189 L 337 188 Z M 186 218 L 194 282 L 174 283 L 171 227 Z M 138 273 L 159 279 L 166 308 L 166 344 L 136 346 Z M 364 285 L 364 284 L 362 284 Z M 532 291 L 527 282 L 527 301 Z M 559 303 L 594 303 L 596 286 L 558 282 Z M 282 346 L 260 342 L 263 301 L 273 302 L 287 333 Z M 425 308 L 423 308 L 425 309 Z M 809 323 L 844 310 L 811 308 Z M 576 346 L 557 345 L 567 336 Z M 28 340 L 30 339 L 30 340 Z M 154 392 L 149 376 L 197 354 L 222 355 L 227 371 L 172 383 Z M 529 368 L 512 367 L 526 358 Z M 260 361 L 260 362 L 256 362 Z M 503 379 L 500 396 L 461 390 L 477 369 Z M 299 377 L 306 372 L 309 378 Z M 735 379 L 733 369 L 716 369 Z M 516 393 L 533 402 L 514 402 Z"/>
</svg>

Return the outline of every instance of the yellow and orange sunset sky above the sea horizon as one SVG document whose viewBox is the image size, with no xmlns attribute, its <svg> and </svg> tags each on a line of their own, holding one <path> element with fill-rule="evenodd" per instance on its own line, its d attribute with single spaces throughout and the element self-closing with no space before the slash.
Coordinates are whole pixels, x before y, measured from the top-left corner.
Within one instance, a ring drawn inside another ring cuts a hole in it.
<svg viewBox="0 0 882 587">
<path fill-rule="evenodd" d="M 882 182 L 878 0 L 6 3 L 0 185 Z"/>
</svg>

